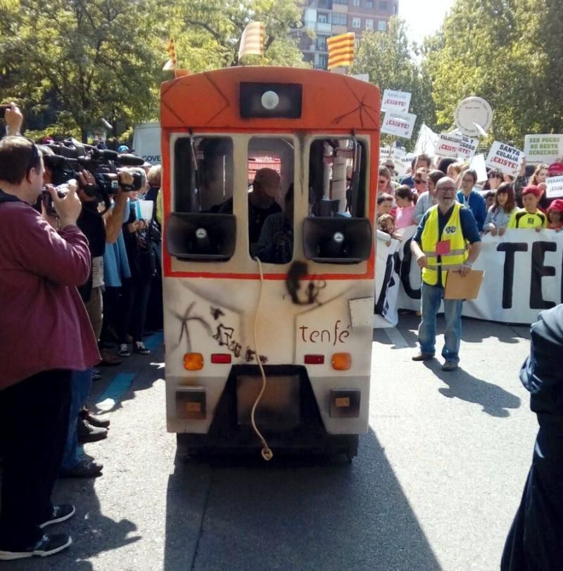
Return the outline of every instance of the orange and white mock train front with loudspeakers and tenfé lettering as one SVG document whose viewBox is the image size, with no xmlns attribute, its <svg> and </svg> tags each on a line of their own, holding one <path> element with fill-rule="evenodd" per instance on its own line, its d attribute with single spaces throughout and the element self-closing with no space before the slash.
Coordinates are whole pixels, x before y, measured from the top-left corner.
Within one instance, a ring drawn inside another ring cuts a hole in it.
<svg viewBox="0 0 563 571">
<path fill-rule="evenodd" d="M 229 68 L 163 84 L 161 126 L 168 430 L 188 453 L 267 442 L 274 454 L 355 456 L 369 403 L 379 90 Z M 279 173 L 277 205 L 249 194 L 264 165 Z M 274 222 L 284 252 L 265 257 Z"/>
</svg>

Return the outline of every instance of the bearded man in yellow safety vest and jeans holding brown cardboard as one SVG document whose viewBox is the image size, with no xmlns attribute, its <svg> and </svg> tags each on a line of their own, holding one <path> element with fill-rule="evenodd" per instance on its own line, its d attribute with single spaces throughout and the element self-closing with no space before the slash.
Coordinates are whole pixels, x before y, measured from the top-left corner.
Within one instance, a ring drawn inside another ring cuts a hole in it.
<svg viewBox="0 0 563 571">
<path fill-rule="evenodd" d="M 418 330 L 420 352 L 413 361 L 434 357 L 436 315 L 444 296 L 448 271 L 467 276 L 481 251 L 481 236 L 475 218 L 456 200 L 455 182 L 444 177 L 436 184 L 438 204 L 431 207 L 420 221 L 410 249 L 422 268 L 422 321 Z M 467 244 L 471 245 L 468 248 Z M 445 333 L 442 371 L 455 371 L 460 361 L 462 333 L 462 300 L 443 300 Z"/>
</svg>

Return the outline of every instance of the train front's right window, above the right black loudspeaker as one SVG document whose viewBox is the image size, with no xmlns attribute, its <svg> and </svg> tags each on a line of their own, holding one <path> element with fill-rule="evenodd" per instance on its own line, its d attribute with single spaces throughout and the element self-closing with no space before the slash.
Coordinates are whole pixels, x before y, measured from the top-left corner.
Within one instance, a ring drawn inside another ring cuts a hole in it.
<svg viewBox="0 0 563 571">
<path fill-rule="evenodd" d="M 318 139 L 309 155 L 309 214 L 366 215 L 367 149 L 355 139 Z"/>
</svg>

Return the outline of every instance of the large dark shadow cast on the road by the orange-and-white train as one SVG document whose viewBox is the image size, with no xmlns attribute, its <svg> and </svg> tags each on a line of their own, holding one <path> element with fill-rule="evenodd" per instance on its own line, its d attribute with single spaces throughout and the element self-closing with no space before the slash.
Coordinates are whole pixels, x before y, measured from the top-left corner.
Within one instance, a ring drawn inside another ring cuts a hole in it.
<svg viewBox="0 0 563 571">
<path fill-rule="evenodd" d="M 303 456 L 177 461 L 167 488 L 164 569 L 190 568 L 440 565 L 370 430 L 351 465 L 343 457 Z"/>
</svg>

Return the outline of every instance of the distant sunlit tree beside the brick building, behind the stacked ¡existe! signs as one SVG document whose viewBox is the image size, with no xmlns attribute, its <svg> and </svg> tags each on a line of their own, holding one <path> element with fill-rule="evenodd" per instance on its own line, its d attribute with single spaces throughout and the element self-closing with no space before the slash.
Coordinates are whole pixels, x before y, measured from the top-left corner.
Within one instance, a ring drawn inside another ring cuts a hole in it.
<svg viewBox="0 0 563 571">
<path fill-rule="evenodd" d="M 364 32 L 352 72 L 367 73 L 369 82 L 377 84 L 381 94 L 384 89 L 410 92 L 410 113 L 417 115 L 415 134 L 423 122 L 434 127 L 431 79 L 427 70 L 417 63 L 404 20 L 393 17 L 385 32 Z M 383 140 L 388 138 L 384 136 Z M 413 136 L 406 146 L 412 148 L 415 140 Z"/>
</svg>

